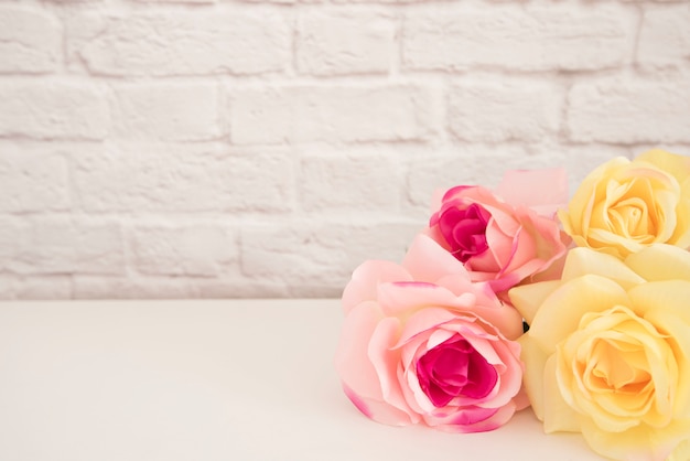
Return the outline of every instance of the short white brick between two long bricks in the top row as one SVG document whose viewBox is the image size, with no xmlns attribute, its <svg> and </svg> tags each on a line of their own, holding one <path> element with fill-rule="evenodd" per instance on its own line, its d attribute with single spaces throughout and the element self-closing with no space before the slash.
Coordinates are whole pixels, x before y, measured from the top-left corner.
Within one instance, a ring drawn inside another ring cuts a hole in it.
<svg viewBox="0 0 690 461">
<path fill-rule="evenodd" d="M 299 21 L 297 65 L 312 75 L 384 74 L 390 68 L 395 28 L 374 14 L 310 13 Z"/>
</svg>

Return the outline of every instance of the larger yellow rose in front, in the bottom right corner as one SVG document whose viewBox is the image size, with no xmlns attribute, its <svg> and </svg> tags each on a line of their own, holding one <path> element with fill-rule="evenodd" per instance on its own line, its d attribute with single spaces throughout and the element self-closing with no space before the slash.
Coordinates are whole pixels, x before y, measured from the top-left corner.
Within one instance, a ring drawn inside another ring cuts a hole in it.
<svg viewBox="0 0 690 461">
<path fill-rule="evenodd" d="M 625 260 L 574 248 L 561 280 L 514 288 L 530 324 L 525 389 L 546 432 L 582 432 L 616 460 L 666 460 L 690 438 L 690 253 Z M 684 460 L 687 461 L 687 459 Z"/>
</svg>

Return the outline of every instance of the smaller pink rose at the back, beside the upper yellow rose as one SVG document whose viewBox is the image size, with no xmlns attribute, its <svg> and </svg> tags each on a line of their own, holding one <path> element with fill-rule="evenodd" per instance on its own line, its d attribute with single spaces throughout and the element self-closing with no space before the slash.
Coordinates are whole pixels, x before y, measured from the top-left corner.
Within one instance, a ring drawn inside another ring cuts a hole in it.
<svg viewBox="0 0 690 461">
<path fill-rule="evenodd" d="M 513 171 L 498 189 L 510 201 L 481 186 L 453 187 L 428 234 L 465 265 L 472 280 L 498 293 L 530 277 L 558 278 L 568 242 L 554 218 L 568 199 L 563 183 L 560 170 Z"/>
</svg>

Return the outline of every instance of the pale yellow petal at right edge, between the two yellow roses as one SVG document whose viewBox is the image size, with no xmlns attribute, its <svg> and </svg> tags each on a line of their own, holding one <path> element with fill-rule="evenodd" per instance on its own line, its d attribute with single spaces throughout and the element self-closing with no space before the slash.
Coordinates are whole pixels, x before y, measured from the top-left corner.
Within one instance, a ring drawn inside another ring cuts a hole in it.
<svg viewBox="0 0 690 461">
<path fill-rule="evenodd" d="M 690 281 L 690 253 L 672 245 L 651 245 L 629 255 L 625 265 L 648 281 Z"/>
</svg>

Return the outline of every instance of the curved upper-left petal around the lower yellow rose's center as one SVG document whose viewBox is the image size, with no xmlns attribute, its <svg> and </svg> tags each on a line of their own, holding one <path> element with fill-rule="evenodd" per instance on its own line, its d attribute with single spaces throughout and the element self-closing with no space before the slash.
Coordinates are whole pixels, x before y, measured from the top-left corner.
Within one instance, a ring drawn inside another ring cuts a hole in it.
<svg viewBox="0 0 690 461">
<path fill-rule="evenodd" d="M 552 354 L 558 343 L 578 329 L 583 314 L 628 303 L 625 290 L 615 281 L 593 275 L 578 277 L 543 301 L 529 333 L 545 352 Z"/>
</svg>

